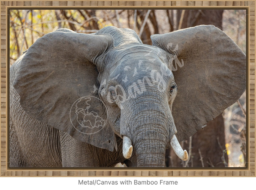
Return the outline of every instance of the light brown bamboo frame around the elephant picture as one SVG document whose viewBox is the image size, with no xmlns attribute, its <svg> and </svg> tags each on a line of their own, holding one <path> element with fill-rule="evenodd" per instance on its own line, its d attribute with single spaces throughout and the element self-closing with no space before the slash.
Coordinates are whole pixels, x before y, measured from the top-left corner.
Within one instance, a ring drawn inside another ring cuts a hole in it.
<svg viewBox="0 0 256 190">
<path fill-rule="evenodd" d="M 129 169 L 129 168 L 89 168 L 89 169 L 9 169 L 7 168 L 6 104 L 9 78 L 7 78 L 8 43 L 8 8 L 246 8 L 247 16 L 247 168 L 163 168 L 163 169 Z M 1 1 L 1 177 L 3 176 L 254 176 L 255 177 L 255 1 Z"/>
</svg>

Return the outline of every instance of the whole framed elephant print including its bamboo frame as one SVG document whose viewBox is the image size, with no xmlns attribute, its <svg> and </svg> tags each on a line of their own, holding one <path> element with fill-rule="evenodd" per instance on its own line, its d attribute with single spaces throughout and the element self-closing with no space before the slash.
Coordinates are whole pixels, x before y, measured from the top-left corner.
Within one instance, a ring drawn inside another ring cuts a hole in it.
<svg viewBox="0 0 256 190">
<path fill-rule="evenodd" d="M 251 6 L 58 3 L 5 5 L 3 174 L 254 175 Z"/>
</svg>

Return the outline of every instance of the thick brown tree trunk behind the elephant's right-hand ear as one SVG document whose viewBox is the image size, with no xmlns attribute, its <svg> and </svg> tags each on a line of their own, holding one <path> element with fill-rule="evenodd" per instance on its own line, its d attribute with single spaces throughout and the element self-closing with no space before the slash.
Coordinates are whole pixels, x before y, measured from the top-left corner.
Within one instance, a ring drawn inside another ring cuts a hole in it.
<svg viewBox="0 0 256 190">
<path fill-rule="evenodd" d="M 223 10 L 177 10 L 176 26 L 182 29 L 197 25 L 214 25 L 222 29 L 222 13 Z M 190 139 L 181 142 L 184 149 L 191 151 L 190 160 L 187 163 L 181 161 L 173 150 L 167 150 L 166 166 L 227 167 L 224 129 L 224 119 L 220 114 Z"/>
</svg>

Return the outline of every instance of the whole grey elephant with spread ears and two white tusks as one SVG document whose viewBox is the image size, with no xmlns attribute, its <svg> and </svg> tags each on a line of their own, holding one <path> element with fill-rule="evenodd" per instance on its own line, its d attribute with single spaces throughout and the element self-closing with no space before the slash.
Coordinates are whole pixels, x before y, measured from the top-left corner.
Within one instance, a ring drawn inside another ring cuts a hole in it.
<svg viewBox="0 0 256 190">
<path fill-rule="evenodd" d="M 9 167 L 164 167 L 246 89 L 246 55 L 213 25 L 151 36 L 58 29 L 10 67 Z M 210 148 L 210 147 L 209 147 Z"/>
</svg>

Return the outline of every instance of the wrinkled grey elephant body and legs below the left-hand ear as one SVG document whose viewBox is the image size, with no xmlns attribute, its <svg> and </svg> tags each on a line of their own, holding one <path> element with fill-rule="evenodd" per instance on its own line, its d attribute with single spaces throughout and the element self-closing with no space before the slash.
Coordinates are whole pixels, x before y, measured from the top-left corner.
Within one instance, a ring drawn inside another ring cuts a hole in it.
<svg viewBox="0 0 256 190">
<path fill-rule="evenodd" d="M 14 80 L 15 69 L 15 65 L 10 69 L 10 83 Z M 10 167 L 114 167 L 120 162 L 129 164 L 124 162 L 120 137 L 116 137 L 118 152 L 98 148 L 32 118 L 22 109 L 20 97 L 12 85 L 10 102 Z"/>
</svg>

